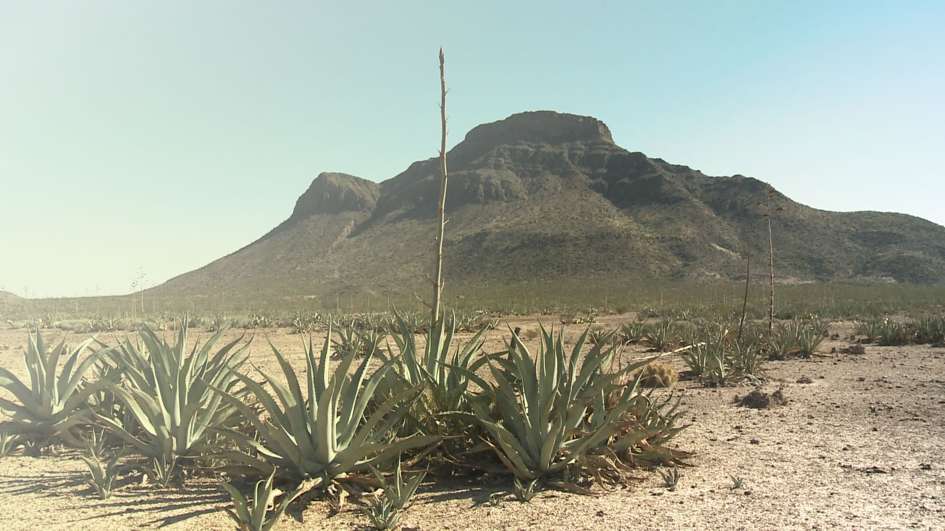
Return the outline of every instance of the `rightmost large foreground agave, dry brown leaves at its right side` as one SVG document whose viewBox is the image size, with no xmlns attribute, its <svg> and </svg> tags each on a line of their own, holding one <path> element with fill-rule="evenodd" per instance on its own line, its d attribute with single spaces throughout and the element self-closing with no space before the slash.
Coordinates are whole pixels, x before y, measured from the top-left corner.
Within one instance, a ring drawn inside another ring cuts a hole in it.
<svg viewBox="0 0 945 531">
<path fill-rule="evenodd" d="M 484 401 L 473 399 L 470 403 L 475 418 L 489 432 L 495 453 L 508 471 L 520 479 L 543 479 L 563 471 L 611 437 L 631 405 L 636 382 L 627 385 L 610 411 L 605 407 L 605 396 L 613 389 L 617 378 L 651 360 L 606 374 L 603 368 L 616 347 L 604 351 L 595 346 L 578 365 L 589 330 L 581 334 L 570 357 L 564 350 L 563 331 L 556 337 L 554 331 L 549 333 L 541 327 L 541 351 L 537 360 L 521 341 L 513 340 L 506 359 L 495 360 L 495 363 L 490 359 L 495 384 L 472 371 L 460 369 L 482 387 L 486 395 L 495 397 L 498 415 Z M 589 416 L 592 406 L 593 413 Z"/>
</svg>

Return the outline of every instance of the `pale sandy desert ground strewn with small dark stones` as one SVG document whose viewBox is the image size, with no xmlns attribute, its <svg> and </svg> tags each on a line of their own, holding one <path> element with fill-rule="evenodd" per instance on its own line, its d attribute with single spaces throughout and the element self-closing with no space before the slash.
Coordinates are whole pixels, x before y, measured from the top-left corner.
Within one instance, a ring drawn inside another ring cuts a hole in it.
<svg viewBox="0 0 945 531">
<path fill-rule="evenodd" d="M 603 322 L 616 326 L 626 319 Z M 536 322 L 530 317 L 511 325 L 527 330 Z M 487 351 L 501 349 L 504 330 L 490 333 Z M 573 341 L 582 330 L 567 327 L 567 338 Z M 849 323 L 831 327 L 841 336 L 851 331 Z M 61 335 L 43 334 L 47 343 Z M 263 335 L 304 370 L 300 338 L 286 330 L 258 331 L 254 363 L 276 369 Z M 68 341 L 81 338 L 70 334 Z M 825 341 L 821 349 L 839 351 L 847 345 Z M 24 376 L 25 347 L 25 331 L 0 331 L 0 365 Z M 679 360 L 674 364 L 683 367 Z M 545 490 L 532 503 L 520 504 L 507 481 L 439 480 L 421 486 L 400 526 L 456 531 L 945 529 L 945 350 L 868 346 L 863 355 L 834 353 L 768 362 L 765 368 L 763 390 L 783 386 L 786 405 L 736 406 L 733 397 L 744 396 L 751 389 L 747 386 L 716 389 L 680 382 L 673 389 L 683 397 L 686 420 L 692 423 L 676 444 L 697 453 L 673 491 L 662 487 L 659 474 L 641 471 L 644 481 L 634 488 L 594 497 Z M 812 383 L 797 383 L 801 376 Z M 127 478 L 102 501 L 86 487 L 83 471 L 85 465 L 69 450 L 0 458 L 0 529 L 233 528 L 221 510 L 230 505 L 229 497 L 212 479 L 191 480 L 180 490 L 140 487 L 137 478 Z M 744 488 L 732 489 L 729 474 L 744 478 Z M 499 505 L 489 503 L 494 492 L 503 500 Z M 322 501 L 293 505 L 275 527 L 368 528 L 356 505 L 329 517 Z"/>
</svg>

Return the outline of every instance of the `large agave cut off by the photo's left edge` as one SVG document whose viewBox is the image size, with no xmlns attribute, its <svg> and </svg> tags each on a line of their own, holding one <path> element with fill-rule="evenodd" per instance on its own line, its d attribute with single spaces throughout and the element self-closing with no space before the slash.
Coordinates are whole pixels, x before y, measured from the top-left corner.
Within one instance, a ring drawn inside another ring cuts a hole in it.
<svg viewBox="0 0 945 531">
<path fill-rule="evenodd" d="M 7 389 L 13 398 L 19 401 L 14 403 L 0 398 L 0 412 L 19 424 L 24 432 L 41 437 L 56 436 L 71 445 L 81 446 L 82 442 L 77 437 L 78 426 L 89 423 L 85 401 L 107 384 L 98 382 L 82 385 L 81 388 L 79 386 L 85 372 L 95 361 L 111 351 L 96 351 L 78 363 L 79 355 L 92 341 L 92 338 L 83 341 L 57 374 L 60 357 L 66 351 L 65 338 L 47 358 L 43 335 L 39 330 L 35 336 L 29 334 L 29 343 L 23 357 L 26 371 L 29 373 L 30 386 L 27 387 L 9 370 L 0 367 L 0 387 Z"/>
</svg>

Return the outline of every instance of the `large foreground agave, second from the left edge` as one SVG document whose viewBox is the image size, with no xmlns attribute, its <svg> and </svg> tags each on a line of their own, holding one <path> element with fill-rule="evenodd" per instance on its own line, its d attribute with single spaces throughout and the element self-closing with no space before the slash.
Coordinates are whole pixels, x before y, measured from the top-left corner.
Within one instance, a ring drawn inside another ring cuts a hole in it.
<svg viewBox="0 0 945 531">
<path fill-rule="evenodd" d="M 158 475 L 163 475 L 167 467 L 173 469 L 179 457 L 199 455 L 214 428 L 238 418 L 236 409 L 222 406 L 221 397 L 211 387 L 232 390 L 237 382 L 236 371 L 249 356 L 252 339 L 231 353 L 243 340 L 240 336 L 211 357 L 210 351 L 227 330 L 224 328 L 199 351 L 195 345 L 188 353 L 187 324 L 185 317 L 173 345 L 142 327 L 141 338 L 148 355 L 126 341 L 112 356 L 124 368 L 128 389 L 108 380 L 103 383 L 124 403 L 140 430 L 131 429 L 121 420 L 96 415 L 99 423 L 138 452 L 163 464 L 155 467 Z"/>
</svg>

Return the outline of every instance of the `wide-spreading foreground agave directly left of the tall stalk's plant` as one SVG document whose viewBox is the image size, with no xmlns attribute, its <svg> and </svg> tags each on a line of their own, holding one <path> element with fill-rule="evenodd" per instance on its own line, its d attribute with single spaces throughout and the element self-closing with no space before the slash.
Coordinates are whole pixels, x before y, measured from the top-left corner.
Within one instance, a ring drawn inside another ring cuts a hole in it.
<svg viewBox="0 0 945 531">
<path fill-rule="evenodd" d="M 363 420 L 369 402 L 376 398 L 374 391 L 392 367 L 392 362 L 388 361 L 367 377 L 369 364 L 374 357 L 374 353 L 369 352 L 354 373 L 348 374 L 355 356 L 355 352 L 349 352 L 335 370 L 330 371 L 331 332 L 329 329 L 318 359 L 311 336 L 305 347 L 307 402 L 295 369 L 271 343 L 270 347 L 282 367 L 285 384 L 262 369 L 257 370 L 272 387 L 274 396 L 248 376 L 237 374 L 262 403 L 266 419 L 259 419 L 239 397 L 211 385 L 223 400 L 239 409 L 252 422 L 261 439 L 224 430 L 237 443 L 258 455 L 232 452 L 228 454 L 229 457 L 259 470 L 271 471 L 276 467 L 305 480 L 326 482 L 342 473 L 365 471 L 404 450 L 440 440 L 440 437 L 419 435 L 390 440 L 391 433 L 404 418 L 410 403 L 423 390 L 422 384 L 387 397 L 367 420 Z M 277 400 L 281 405 L 276 403 Z"/>
</svg>

